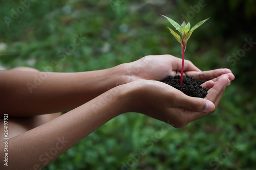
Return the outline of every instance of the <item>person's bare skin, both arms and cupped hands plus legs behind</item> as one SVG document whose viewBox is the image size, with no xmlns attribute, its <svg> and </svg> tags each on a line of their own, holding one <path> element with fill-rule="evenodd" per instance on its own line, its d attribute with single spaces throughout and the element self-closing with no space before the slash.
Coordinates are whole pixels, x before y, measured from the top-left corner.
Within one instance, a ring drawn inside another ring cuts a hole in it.
<svg viewBox="0 0 256 170">
<path fill-rule="evenodd" d="M 183 127 L 213 113 L 234 79 L 229 69 L 201 71 L 185 60 L 184 74 L 208 80 L 203 86 L 210 89 L 205 99 L 191 98 L 159 82 L 168 75 L 180 75 L 180 70 L 179 58 L 146 56 L 104 70 L 51 72 L 32 92 L 27 83 L 33 83 L 42 72 L 24 67 L 0 71 L 0 113 L 8 113 L 9 134 L 8 167 L 1 163 L 0 168 L 45 167 L 101 125 L 126 112 Z M 67 110 L 71 111 L 57 113 Z M 0 129 L 3 127 L 0 123 Z M 0 140 L 3 135 L 0 133 Z"/>
</svg>

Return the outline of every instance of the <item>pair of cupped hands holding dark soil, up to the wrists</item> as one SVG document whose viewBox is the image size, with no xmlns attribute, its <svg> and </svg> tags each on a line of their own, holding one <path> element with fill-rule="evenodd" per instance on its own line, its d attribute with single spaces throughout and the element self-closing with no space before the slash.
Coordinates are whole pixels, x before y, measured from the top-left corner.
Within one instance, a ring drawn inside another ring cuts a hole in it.
<svg viewBox="0 0 256 170">
<path fill-rule="evenodd" d="M 129 91 L 127 112 L 139 112 L 180 128 L 188 123 L 215 112 L 222 95 L 234 75 L 229 69 L 201 71 L 185 60 L 184 75 L 197 80 L 207 80 L 204 99 L 192 98 L 181 91 L 160 82 L 167 76 L 180 75 L 182 60 L 170 55 L 146 56 L 126 64 L 130 80 L 121 86 Z"/>
</svg>

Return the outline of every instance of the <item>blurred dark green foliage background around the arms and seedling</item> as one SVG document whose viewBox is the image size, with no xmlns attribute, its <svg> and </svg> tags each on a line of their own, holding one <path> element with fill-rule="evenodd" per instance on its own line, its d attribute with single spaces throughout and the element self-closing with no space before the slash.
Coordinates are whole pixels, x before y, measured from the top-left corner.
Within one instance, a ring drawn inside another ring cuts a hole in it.
<svg viewBox="0 0 256 170">
<path fill-rule="evenodd" d="M 185 58 L 201 70 L 228 67 L 236 76 L 214 114 L 175 129 L 126 113 L 44 169 L 256 167 L 255 1 L 0 3 L 0 69 L 29 66 L 44 71 L 51 66 L 57 72 L 76 72 L 110 68 L 146 55 L 181 57 L 163 14 L 179 23 L 185 18 L 191 26 L 210 17 L 189 39 Z M 79 45 L 73 43 L 76 36 L 83 37 Z"/>
</svg>

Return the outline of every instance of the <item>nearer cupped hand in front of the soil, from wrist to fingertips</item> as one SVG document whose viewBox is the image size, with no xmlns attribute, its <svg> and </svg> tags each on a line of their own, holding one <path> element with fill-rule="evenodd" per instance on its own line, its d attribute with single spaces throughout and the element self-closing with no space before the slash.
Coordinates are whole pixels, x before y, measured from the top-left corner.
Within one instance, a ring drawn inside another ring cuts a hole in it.
<svg viewBox="0 0 256 170">
<path fill-rule="evenodd" d="M 159 81 L 134 81 L 125 84 L 125 89 L 131 91 L 127 95 L 126 111 L 142 113 L 180 128 L 215 112 L 228 82 L 227 75 L 220 76 L 201 99 L 187 96 Z"/>
</svg>

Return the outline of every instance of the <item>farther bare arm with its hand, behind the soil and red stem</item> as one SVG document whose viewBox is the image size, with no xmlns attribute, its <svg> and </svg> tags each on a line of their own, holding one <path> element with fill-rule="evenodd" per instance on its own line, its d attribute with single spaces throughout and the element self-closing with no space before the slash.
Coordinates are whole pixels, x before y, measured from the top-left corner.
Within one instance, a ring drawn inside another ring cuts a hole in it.
<svg viewBox="0 0 256 170">
<path fill-rule="evenodd" d="M 181 59 L 170 55 L 146 56 L 113 68 L 76 72 L 0 71 L 0 113 L 32 116 L 72 110 L 103 92 L 135 80 L 162 80 L 180 75 Z M 200 71 L 185 61 L 184 71 L 196 79 L 234 79 L 229 69 Z M 214 82 L 211 82 L 214 85 Z"/>
</svg>

